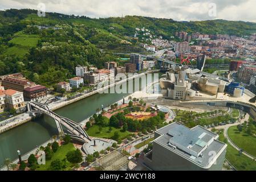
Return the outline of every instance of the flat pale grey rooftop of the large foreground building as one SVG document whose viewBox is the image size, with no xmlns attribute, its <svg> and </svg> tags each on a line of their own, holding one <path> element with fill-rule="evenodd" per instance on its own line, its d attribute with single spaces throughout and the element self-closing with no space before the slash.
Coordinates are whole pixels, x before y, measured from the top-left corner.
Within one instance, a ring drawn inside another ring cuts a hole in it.
<svg viewBox="0 0 256 182">
<path fill-rule="evenodd" d="M 189 129 L 175 122 L 156 132 L 161 136 L 155 142 L 203 167 L 212 166 L 218 154 L 226 148 L 225 143 L 217 140 L 217 134 L 201 126 Z M 214 158 L 213 153 L 216 154 Z"/>
</svg>

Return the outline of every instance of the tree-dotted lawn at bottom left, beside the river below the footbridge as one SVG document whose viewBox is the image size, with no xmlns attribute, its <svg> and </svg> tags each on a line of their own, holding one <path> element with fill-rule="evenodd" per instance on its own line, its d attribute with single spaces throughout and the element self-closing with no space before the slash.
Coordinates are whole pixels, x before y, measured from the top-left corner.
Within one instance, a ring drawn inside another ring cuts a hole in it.
<svg viewBox="0 0 256 182">
<path fill-rule="evenodd" d="M 52 156 L 52 159 L 46 161 L 46 165 L 38 165 L 38 168 L 36 168 L 36 171 L 49 171 L 52 161 L 56 159 L 60 159 L 60 160 L 65 159 L 67 152 L 73 151 L 73 150 L 75 150 L 75 147 L 72 143 L 68 143 L 66 145 L 60 146 L 58 148 L 58 151 L 56 151 L 56 153 L 54 153 L 54 155 Z M 72 167 L 72 164 L 67 161 L 67 166 L 68 167 L 66 169 L 63 169 L 63 171 L 70 170 Z"/>
</svg>

